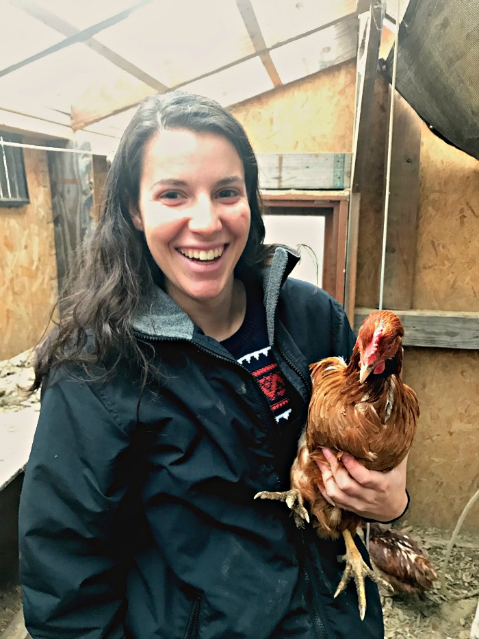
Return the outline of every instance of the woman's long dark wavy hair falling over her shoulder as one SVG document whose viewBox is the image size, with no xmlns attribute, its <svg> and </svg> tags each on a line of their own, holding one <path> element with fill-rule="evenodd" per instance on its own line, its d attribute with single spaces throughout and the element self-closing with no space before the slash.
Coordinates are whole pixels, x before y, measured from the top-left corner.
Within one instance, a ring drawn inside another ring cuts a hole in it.
<svg viewBox="0 0 479 639">
<path fill-rule="evenodd" d="M 120 140 L 107 175 L 103 214 L 66 278 L 57 303 L 60 320 L 37 349 L 31 390 L 40 387 L 52 368 L 67 362 L 90 372 L 101 362 L 112 373 L 121 358 L 133 355 L 148 372 L 148 358 L 131 323 L 142 297 L 151 286 L 162 286 L 163 277 L 129 211 L 138 208 L 146 143 L 164 129 L 211 132 L 233 144 L 243 162 L 251 211 L 248 240 L 235 273 L 257 277 L 270 261 L 272 247 L 263 244 L 257 161 L 242 125 L 205 97 L 183 92 L 148 97 Z"/>
</svg>

